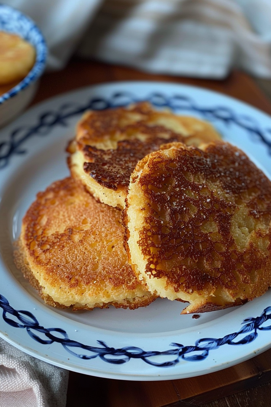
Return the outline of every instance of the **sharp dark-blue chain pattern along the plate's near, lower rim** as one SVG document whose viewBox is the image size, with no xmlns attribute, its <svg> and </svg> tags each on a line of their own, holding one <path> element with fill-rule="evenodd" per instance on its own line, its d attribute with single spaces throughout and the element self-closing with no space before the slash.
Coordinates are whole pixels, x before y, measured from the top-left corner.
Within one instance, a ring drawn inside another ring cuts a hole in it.
<svg viewBox="0 0 271 407">
<path fill-rule="evenodd" d="M 263 326 L 263 324 L 271 319 L 271 306 L 264 309 L 261 313 L 260 317 L 256 318 L 246 318 L 242 322 L 242 327 L 238 330 L 238 332 L 234 332 L 228 335 L 225 335 L 223 338 L 202 338 L 197 339 L 195 341 L 195 345 L 191 346 L 184 346 L 178 343 L 171 343 L 169 346 L 173 346 L 173 349 L 165 350 L 165 351 L 157 351 L 157 350 L 143 350 L 141 348 L 135 346 L 125 346 L 124 348 L 113 348 L 111 346 L 107 346 L 104 341 L 97 341 L 99 346 L 88 346 L 81 344 L 78 341 L 74 341 L 73 339 L 69 339 L 67 332 L 61 328 L 44 328 L 43 326 L 39 325 L 37 318 L 30 313 L 29 311 L 23 310 L 15 310 L 8 302 L 8 300 L 0 294 L 0 307 L 3 309 L 3 319 L 7 324 L 15 327 L 15 328 L 25 328 L 28 335 L 35 339 L 35 341 L 39 342 L 43 345 L 53 344 L 54 342 L 59 343 L 63 346 L 67 352 L 72 354 L 75 357 L 80 359 L 95 359 L 96 357 L 100 357 L 104 362 L 107 363 L 114 363 L 114 364 L 122 364 L 127 363 L 130 359 L 141 359 L 145 363 L 149 365 L 160 367 L 160 368 L 168 368 L 170 366 L 174 366 L 179 363 L 180 359 L 184 359 L 185 361 L 193 362 L 193 361 L 202 361 L 206 359 L 210 350 L 215 350 L 220 346 L 225 344 L 228 345 L 245 345 L 249 344 L 250 342 L 254 341 L 258 336 L 258 330 L 271 330 L 271 325 Z M 14 319 L 11 319 L 7 316 L 7 314 L 12 315 L 13 317 L 17 318 L 18 322 Z M 58 335 L 57 335 L 58 334 Z M 243 334 L 245 337 L 234 341 L 234 339 L 240 337 Z M 78 348 L 80 349 L 80 353 L 75 352 L 72 349 Z M 82 353 L 82 351 L 87 351 L 87 353 Z M 197 352 L 197 354 L 193 354 Z M 157 356 L 175 356 L 176 358 L 173 360 L 165 361 L 165 362 L 155 362 L 150 360 L 152 357 Z"/>
</svg>

